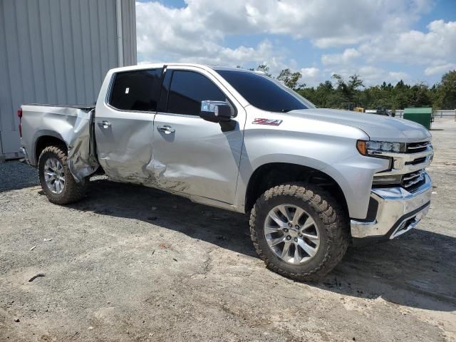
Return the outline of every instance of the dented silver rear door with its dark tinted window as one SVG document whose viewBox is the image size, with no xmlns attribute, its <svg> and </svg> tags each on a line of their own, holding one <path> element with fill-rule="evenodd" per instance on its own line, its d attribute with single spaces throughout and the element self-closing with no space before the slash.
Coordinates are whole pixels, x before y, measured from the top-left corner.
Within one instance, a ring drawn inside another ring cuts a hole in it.
<svg viewBox="0 0 456 342">
<path fill-rule="evenodd" d="M 153 183 L 150 165 L 153 120 L 161 74 L 162 68 L 115 73 L 107 98 L 98 100 L 95 110 L 98 160 L 113 180 Z"/>
</svg>

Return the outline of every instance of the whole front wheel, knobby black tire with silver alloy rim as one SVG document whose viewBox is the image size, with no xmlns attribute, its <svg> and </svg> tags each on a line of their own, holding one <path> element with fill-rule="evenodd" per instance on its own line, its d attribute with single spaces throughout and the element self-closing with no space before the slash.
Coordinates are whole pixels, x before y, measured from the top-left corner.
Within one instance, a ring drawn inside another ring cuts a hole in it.
<svg viewBox="0 0 456 342">
<path fill-rule="evenodd" d="M 348 219 L 335 199 L 305 183 L 264 192 L 250 216 L 259 257 L 291 279 L 317 280 L 333 269 L 348 247 Z"/>
</svg>

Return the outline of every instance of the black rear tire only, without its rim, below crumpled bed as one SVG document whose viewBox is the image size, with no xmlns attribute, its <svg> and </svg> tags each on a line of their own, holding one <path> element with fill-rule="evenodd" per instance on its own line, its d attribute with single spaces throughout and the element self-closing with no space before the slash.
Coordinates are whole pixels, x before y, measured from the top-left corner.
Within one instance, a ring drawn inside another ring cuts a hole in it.
<svg viewBox="0 0 456 342">
<path fill-rule="evenodd" d="M 63 177 L 65 178 L 65 185 L 61 193 L 54 193 L 50 187 L 46 184 L 44 169 L 46 161 L 49 158 L 55 158 L 61 162 L 63 166 Z M 63 146 L 48 146 L 42 152 L 38 159 L 38 177 L 40 179 L 41 187 L 43 188 L 46 197 L 49 202 L 55 204 L 70 204 L 80 200 L 87 190 L 88 180 L 82 182 L 76 182 L 73 175 L 71 175 L 68 169 L 68 163 L 66 162 L 66 148 Z"/>
</svg>

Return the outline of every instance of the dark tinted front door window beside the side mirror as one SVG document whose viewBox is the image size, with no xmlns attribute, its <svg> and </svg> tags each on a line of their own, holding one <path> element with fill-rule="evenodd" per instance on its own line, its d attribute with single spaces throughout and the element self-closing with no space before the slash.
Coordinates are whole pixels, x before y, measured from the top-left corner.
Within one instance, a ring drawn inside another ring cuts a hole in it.
<svg viewBox="0 0 456 342">
<path fill-rule="evenodd" d="M 226 101 L 227 97 L 209 78 L 193 71 L 173 71 L 167 112 L 199 115 L 202 100 Z"/>
</svg>

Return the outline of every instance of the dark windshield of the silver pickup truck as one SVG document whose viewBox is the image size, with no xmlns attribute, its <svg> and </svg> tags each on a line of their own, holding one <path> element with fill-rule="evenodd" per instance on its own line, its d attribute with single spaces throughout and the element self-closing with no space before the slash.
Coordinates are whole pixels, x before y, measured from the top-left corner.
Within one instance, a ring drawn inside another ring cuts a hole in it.
<svg viewBox="0 0 456 342">
<path fill-rule="evenodd" d="M 246 71 L 216 71 L 251 105 L 261 110 L 286 113 L 290 110 L 315 107 L 295 91 L 267 76 Z"/>
</svg>

